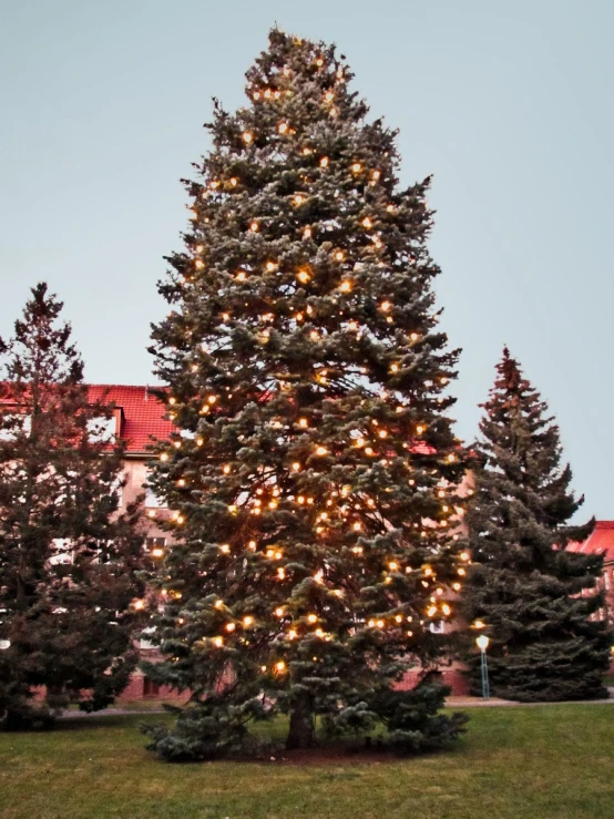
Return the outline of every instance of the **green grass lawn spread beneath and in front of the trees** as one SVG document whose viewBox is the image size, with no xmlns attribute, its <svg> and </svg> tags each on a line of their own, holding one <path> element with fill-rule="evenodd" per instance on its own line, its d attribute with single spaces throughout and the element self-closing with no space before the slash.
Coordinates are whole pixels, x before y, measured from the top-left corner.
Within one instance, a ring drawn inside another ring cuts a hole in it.
<svg viewBox="0 0 614 819">
<path fill-rule="evenodd" d="M 614 706 L 472 708 L 452 751 L 327 765 L 168 765 L 142 720 L 0 735 L 2 819 L 612 819 Z"/>
</svg>

